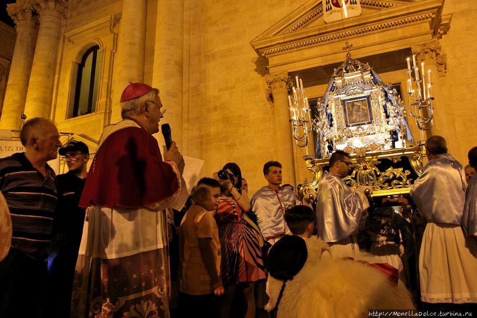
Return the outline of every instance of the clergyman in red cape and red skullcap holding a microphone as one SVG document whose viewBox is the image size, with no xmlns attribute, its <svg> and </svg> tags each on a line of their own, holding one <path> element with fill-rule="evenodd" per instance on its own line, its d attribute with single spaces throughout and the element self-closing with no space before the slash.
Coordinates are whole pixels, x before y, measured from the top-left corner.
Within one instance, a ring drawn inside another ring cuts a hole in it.
<svg viewBox="0 0 477 318">
<path fill-rule="evenodd" d="M 180 193 L 172 142 L 152 136 L 164 110 L 159 90 L 130 83 L 121 116 L 106 126 L 79 206 L 89 208 L 76 266 L 71 317 L 168 317 L 166 224 Z"/>
</svg>

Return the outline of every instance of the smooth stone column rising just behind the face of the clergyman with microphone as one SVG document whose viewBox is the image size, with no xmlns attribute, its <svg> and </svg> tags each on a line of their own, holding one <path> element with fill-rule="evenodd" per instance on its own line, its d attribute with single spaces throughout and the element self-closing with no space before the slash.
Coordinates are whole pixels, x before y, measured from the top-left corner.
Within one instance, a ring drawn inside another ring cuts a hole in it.
<svg viewBox="0 0 477 318">
<path fill-rule="evenodd" d="M 172 130 L 177 146 L 182 140 L 182 81 L 184 43 L 184 1 L 158 0 L 153 86 L 167 109 L 163 119 Z M 161 140 L 161 138 L 160 138 Z"/>
</svg>

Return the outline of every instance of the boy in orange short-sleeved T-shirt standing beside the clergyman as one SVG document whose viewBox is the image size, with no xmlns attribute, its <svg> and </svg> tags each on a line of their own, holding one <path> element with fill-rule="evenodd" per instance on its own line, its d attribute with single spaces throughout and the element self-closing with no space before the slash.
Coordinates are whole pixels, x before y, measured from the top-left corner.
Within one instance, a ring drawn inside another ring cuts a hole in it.
<svg viewBox="0 0 477 318">
<path fill-rule="evenodd" d="M 216 317 L 215 296 L 224 294 L 219 278 L 220 241 L 212 215 L 220 183 L 202 178 L 192 191 L 194 204 L 179 228 L 179 317 Z"/>
</svg>

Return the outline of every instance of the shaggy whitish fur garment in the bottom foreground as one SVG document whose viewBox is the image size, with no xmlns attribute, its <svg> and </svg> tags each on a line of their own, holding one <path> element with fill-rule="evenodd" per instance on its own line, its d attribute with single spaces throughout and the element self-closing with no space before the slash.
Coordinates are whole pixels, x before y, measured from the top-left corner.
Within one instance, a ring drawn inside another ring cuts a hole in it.
<svg viewBox="0 0 477 318">
<path fill-rule="evenodd" d="M 321 239 L 305 240 L 305 266 L 288 281 L 278 306 L 278 318 L 361 318 L 374 309 L 415 309 L 406 287 L 397 286 L 378 269 L 359 262 L 333 259 Z M 355 257 L 374 262 L 369 254 Z M 269 276 L 270 302 L 275 307 L 283 281 Z"/>
</svg>

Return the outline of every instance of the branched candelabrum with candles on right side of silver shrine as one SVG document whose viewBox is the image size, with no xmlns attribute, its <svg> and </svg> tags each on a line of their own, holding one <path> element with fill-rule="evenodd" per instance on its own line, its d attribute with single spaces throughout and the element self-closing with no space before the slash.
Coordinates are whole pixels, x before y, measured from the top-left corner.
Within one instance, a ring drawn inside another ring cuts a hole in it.
<svg viewBox="0 0 477 318">
<path fill-rule="evenodd" d="M 416 65 L 416 56 L 412 55 L 412 69 L 410 58 L 407 58 L 407 99 L 409 101 L 409 113 L 416 121 L 419 128 L 420 142 L 424 140 L 424 130 L 432 128 L 432 82 L 431 70 L 427 71 L 427 83 L 424 72 L 424 62 L 421 63 L 420 70 Z"/>
</svg>

